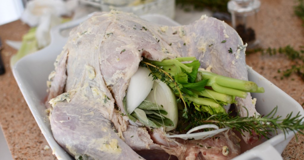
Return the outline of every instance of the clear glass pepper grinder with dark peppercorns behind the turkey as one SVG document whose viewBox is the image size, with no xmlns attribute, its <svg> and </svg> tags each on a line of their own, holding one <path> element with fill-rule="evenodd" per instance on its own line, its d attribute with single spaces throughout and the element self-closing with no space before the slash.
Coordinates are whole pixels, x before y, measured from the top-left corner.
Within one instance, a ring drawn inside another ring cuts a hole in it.
<svg viewBox="0 0 304 160">
<path fill-rule="evenodd" d="M 255 48 L 259 44 L 255 30 L 257 12 L 260 10 L 259 0 L 230 0 L 228 12 L 231 14 L 232 27 L 240 35 L 247 48 Z"/>
</svg>

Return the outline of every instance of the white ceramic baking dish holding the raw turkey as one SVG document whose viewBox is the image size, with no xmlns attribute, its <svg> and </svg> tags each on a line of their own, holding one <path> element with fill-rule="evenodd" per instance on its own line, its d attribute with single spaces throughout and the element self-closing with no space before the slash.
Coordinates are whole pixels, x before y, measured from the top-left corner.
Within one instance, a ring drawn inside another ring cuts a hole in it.
<svg viewBox="0 0 304 160">
<path fill-rule="evenodd" d="M 48 115 L 45 111 L 46 108 L 43 104 L 43 100 L 47 96 L 46 81 L 49 73 L 54 69 L 53 63 L 57 55 L 60 54 L 62 47 L 67 42 L 67 37 L 62 37 L 60 32 L 77 26 L 86 18 L 87 17 L 53 28 L 51 30 L 51 43 L 49 46 L 22 58 L 13 67 L 13 74 L 29 109 L 40 127 L 41 132 L 52 148 L 53 154 L 55 154 L 58 159 L 68 160 L 73 158 L 56 143 L 52 135 Z M 142 16 L 142 18 L 163 25 L 179 25 L 170 18 L 161 15 L 146 15 Z M 304 115 L 303 108 L 299 103 L 249 66 L 248 76 L 249 80 L 254 81 L 258 86 L 264 87 L 265 89 L 265 93 L 252 94 L 252 97 L 257 98 L 256 108 L 261 115 L 269 113 L 275 106 L 278 106 L 277 115 L 282 117 L 285 117 L 290 112 L 300 112 L 301 115 Z M 249 150 L 237 156 L 234 160 L 282 159 L 282 151 L 293 136 L 294 133 L 292 132 L 286 134 L 286 137 L 284 136 L 284 133 L 281 132 L 278 135 L 273 134 L 271 139 L 262 140 L 261 144 L 256 147 L 249 146 Z"/>
</svg>

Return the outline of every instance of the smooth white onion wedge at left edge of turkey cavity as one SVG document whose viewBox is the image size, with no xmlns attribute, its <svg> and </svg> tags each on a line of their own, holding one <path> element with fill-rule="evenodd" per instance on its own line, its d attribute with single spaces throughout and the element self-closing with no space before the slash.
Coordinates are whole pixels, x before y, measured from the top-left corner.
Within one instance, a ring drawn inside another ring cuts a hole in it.
<svg viewBox="0 0 304 160">
<path fill-rule="evenodd" d="M 138 67 L 136 73 L 130 78 L 126 93 L 126 110 L 131 114 L 136 107 L 150 93 L 153 86 L 153 77 L 149 76 L 150 71 L 147 68 Z"/>
</svg>

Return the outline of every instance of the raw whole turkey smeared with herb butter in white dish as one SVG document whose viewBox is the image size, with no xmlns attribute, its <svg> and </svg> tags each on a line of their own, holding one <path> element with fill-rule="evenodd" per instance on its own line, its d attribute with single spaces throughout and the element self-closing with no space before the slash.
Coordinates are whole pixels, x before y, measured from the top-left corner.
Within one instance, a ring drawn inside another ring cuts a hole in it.
<svg viewBox="0 0 304 160">
<path fill-rule="evenodd" d="M 195 56 L 202 68 L 247 80 L 245 48 L 233 28 L 206 16 L 168 27 L 130 13 L 95 13 L 71 31 L 49 76 L 54 138 L 76 159 L 231 159 L 240 154 L 240 139 L 231 130 L 218 139 L 168 138 L 162 127 L 129 121 L 123 98 L 142 57 Z M 247 116 L 240 106 L 249 116 L 258 114 L 250 94 L 237 101 L 240 116 Z M 244 139 L 251 143 L 252 137 Z"/>
</svg>

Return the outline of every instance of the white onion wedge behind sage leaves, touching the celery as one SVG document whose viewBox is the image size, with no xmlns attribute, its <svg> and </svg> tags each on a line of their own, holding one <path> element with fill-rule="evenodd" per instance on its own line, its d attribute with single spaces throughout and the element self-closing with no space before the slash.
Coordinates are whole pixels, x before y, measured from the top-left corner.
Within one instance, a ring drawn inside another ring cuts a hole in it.
<svg viewBox="0 0 304 160">
<path fill-rule="evenodd" d="M 163 105 L 164 109 L 168 112 L 167 115 L 163 116 L 171 119 L 174 123 L 174 126 L 166 127 L 166 131 L 174 130 L 178 121 L 178 108 L 175 95 L 170 87 L 160 80 L 154 80 L 152 89 L 146 100 L 157 105 Z"/>
</svg>

